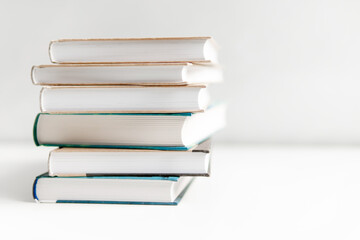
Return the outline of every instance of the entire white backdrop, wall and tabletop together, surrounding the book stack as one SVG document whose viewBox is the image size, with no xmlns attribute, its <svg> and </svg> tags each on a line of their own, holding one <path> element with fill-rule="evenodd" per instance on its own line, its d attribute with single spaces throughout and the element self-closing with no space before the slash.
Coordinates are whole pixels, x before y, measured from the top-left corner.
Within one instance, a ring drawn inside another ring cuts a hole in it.
<svg viewBox="0 0 360 240">
<path fill-rule="evenodd" d="M 357 0 L 0 0 L 0 238 L 359 239 L 359 13 Z M 50 40 L 207 35 L 225 72 L 212 93 L 229 103 L 211 178 L 178 207 L 33 202 L 50 149 L 32 143 L 30 69 Z"/>
</svg>

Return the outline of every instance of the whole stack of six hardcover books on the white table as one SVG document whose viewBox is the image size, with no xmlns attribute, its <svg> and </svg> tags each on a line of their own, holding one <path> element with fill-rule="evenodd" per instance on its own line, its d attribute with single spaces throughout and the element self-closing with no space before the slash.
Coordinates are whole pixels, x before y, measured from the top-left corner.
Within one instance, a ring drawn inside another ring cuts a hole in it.
<svg viewBox="0 0 360 240">
<path fill-rule="evenodd" d="M 177 205 L 195 176 L 209 176 L 210 137 L 225 107 L 210 37 L 52 41 L 34 123 L 50 152 L 37 202 Z"/>
</svg>

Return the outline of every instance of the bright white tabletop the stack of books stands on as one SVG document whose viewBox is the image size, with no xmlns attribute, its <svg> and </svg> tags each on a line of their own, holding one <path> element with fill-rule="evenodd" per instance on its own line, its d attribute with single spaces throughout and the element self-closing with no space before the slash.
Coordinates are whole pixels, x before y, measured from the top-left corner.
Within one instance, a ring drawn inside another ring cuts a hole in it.
<svg viewBox="0 0 360 240">
<path fill-rule="evenodd" d="M 360 147 L 215 144 L 175 207 L 36 204 L 50 149 L 0 145 L 0 239 L 360 238 Z"/>
</svg>

